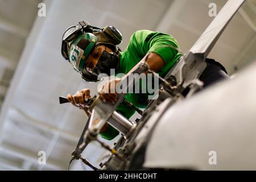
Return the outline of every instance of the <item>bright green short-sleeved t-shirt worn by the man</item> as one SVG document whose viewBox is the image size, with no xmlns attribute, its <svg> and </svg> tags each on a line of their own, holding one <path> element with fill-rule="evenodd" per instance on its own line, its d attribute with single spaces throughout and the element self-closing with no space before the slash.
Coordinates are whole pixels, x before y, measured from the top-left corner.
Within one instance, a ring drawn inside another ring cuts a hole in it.
<svg viewBox="0 0 256 182">
<path fill-rule="evenodd" d="M 178 53 L 178 48 L 178 43 L 171 35 L 149 30 L 136 31 L 131 36 L 128 47 L 121 52 L 120 64 L 115 73 L 128 73 L 148 52 L 155 52 L 164 60 L 164 67 L 157 72 L 159 76 L 164 77 L 182 56 Z M 147 106 L 147 96 L 143 93 L 127 93 L 125 98 L 134 106 L 144 109 Z M 135 110 L 122 103 L 116 110 L 126 118 L 130 118 L 135 113 Z M 100 133 L 101 137 L 107 140 L 112 140 L 118 134 L 119 132 L 112 126 L 109 126 L 104 133 Z"/>
</svg>

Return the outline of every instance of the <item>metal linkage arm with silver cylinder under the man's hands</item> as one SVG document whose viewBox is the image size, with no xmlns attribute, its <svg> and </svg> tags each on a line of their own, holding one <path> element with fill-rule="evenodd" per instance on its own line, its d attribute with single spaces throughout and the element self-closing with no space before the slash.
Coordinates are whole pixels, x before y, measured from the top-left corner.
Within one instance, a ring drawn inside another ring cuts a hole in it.
<svg viewBox="0 0 256 182">
<path fill-rule="evenodd" d="M 138 64 L 133 68 L 133 71 L 130 73 L 146 73 L 148 70 L 148 65 L 145 62 Z M 130 78 L 127 75 L 122 79 L 118 84 L 127 85 L 126 89 L 129 90 L 130 86 L 134 86 L 135 78 Z M 127 93 L 127 92 L 126 92 Z M 96 140 L 97 135 L 100 133 L 102 127 L 110 120 L 110 125 L 114 126 L 115 129 L 119 130 L 121 133 L 125 134 L 126 137 L 129 137 L 129 132 L 134 131 L 135 125 L 131 123 L 128 119 L 122 117 L 118 113 L 114 113 L 117 106 L 123 101 L 126 93 L 118 94 L 117 102 L 112 104 L 111 102 L 104 103 L 98 97 L 94 101 L 92 114 L 89 120 L 88 130 L 84 134 L 84 142 L 80 145 L 79 148 L 84 148 L 92 140 Z M 114 114 L 113 114 L 114 113 Z"/>
</svg>

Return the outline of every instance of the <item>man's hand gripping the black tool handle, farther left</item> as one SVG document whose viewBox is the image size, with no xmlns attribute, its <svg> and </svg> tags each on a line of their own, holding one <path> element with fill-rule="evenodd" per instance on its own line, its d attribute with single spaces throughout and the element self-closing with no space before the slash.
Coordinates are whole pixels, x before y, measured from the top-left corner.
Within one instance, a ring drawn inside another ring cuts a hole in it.
<svg viewBox="0 0 256 182">
<path fill-rule="evenodd" d="M 86 115 L 89 116 L 88 109 L 84 108 L 85 102 L 87 102 L 91 98 L 90 96 L 90 90 L 89 89 L 82 89 L 81 91 L 76 92 L 72 96 L 72 94 L 68 94 L 67 99 L 71 104 L 73 104 L 76 107 L 79 107 L 80 109 L 84 109 Z"/>
</svg>

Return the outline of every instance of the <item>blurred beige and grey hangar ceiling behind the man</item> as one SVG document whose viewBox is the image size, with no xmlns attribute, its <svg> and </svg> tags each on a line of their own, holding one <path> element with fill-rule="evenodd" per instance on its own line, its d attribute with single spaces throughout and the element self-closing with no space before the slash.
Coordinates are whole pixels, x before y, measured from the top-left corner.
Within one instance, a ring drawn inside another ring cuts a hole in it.
<svg viewBox="0 0 256 182">
<path fill-rule="evenodd" d="M 42 2 L 46 16 L 38 15 Z M 209 3 L 216 3 L 218 13 L 226 2 L 0 0 L 0 169 L 68 169 L 87 117 L 72 105 L 59 105 L 59 96 L 82 88 L 97 93 L 96 85 L 82 81 L 61 56 L 61 38 L 69 26 L 81 20 L 112 25 L 123 35 L 122 49 L 136 30 L 166 32 L 186 52 L 214 18 L 208 15 Z M 256 60 L 255 32 L 256 0 L 247 0 L 208 57 L 233 75 Z M 39 151 L 46 152 L 46 165 L 38 164 Z M 104 152 L 92 143 L 83 156 L 97 166 Z M 71 169 L 89 170 L 81 162 Z"/>
</svg>

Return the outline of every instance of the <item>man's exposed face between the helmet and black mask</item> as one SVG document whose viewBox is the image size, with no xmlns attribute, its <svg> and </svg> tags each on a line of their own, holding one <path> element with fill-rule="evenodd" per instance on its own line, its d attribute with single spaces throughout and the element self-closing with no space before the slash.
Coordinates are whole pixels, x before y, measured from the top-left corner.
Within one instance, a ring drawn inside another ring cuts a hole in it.
<svg viewBox="0 0 256 182">
<path fill-rule="evenodd" d="M 86 71 L 92 73 L 93 69 L 96 67 L 96 64 L 100 60 L 100 57 L 104 51 L 107 51 L 109 53 L 113 52 L 110 48 L 101 45 L 96 47 L 92 53 L 89 54 L 88 59 L 86 60 L 85 63 L 85 69 Z"/>
</svg>

